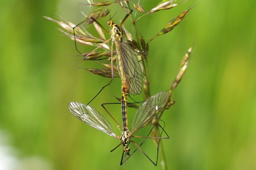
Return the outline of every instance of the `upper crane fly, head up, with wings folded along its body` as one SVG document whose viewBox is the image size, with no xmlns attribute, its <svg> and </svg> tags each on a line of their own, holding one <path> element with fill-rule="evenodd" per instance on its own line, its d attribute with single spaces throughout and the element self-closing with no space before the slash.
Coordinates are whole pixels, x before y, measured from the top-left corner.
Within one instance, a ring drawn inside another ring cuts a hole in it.
<svg viewBox="0 0 256 170">
<path fill-rule="evenodd" d="M 122 86 L 125 87 L 126 91 L 129 94 L 136 95 L 136 94 L 140 94 L 142 91 L 142 71 L 140 68 L 140 63 L 137 58 L 138 54 L 128 44 L 125 32 L 121 28 L 121 26 L 123 25 L 123 23 L 125 22 L 125 20 L 129 17 L 129 15 L 131 13 L 132 13 L 132 10 L 128 14 L 126 14 L 125 18 L 122 20 L 122 22 L 119 25 L 115 24 L 113 22 L 113 20 L 109 20 L 107 22 L 108 25 L 111 27 L 111 32 L 109 33 L 109 34 L 111 34 L 111 38 L 109 40 L 106 40 L 102 45 L 104 45 L 104 44 L 108 43 L 110 40 L 112 40 L 112 43 L 111 43 L 111 78 L 112 79 L 107 85 L 102 87 L 102 89 L 99 91 L 99 93 L 103 90 L 103 88 L 105 88 L 112 82 L 113 77 L 114 77 L 113 43 L 115 43 L 115 45 L 116 45 L 116 63 L 117 63 L 118 71 L 119 71 L 119 76 L 121 77 L 121 80 L 122 80 Z M 93 18 L 91 18 L 91 19 L 94 20 L 95 22 L 97 22 L 95 19 L 93 19 Z M 79 25 L 77 25 L 77 26 L 79 26 Z M 76 45 L 76 35 L 75 35 L 76 27 L 73 28 L 75 45 Z M 102 45 L 95 48 L 94 51 L 97 50 L 98 48 L 102 47 Z M 76 50 L 78 51 L 77 47 L 76 47 Z M 94 52 L 94 51 L 92 51 L 92 52 Z M 87 56 L 89 56 L 92 52 L 88 53 Z M 85 57 L 87 57 L 87 56 L 85 56 Z M 96 94 L 96 96 L 98 96 L 98 94 Z M 93 99 L 91 99 L 91 101 Z"/>
</svg>

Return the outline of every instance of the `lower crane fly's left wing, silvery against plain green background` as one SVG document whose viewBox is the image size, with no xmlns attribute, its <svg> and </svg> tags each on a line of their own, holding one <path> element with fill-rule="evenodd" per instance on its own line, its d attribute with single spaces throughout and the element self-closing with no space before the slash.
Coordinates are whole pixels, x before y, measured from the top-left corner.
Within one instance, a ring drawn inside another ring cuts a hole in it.
<svg viewBox="0 0 256 170">
<path fill-rule="evenodd" d="M 96 109 L 79 102 L 70 102 L 70 112 L 82 122 L 94 127 L 110 136 L 118 138 L 113 132 L 111 124 Z"/>
</svg>

